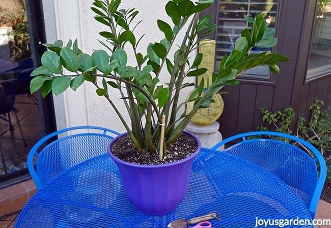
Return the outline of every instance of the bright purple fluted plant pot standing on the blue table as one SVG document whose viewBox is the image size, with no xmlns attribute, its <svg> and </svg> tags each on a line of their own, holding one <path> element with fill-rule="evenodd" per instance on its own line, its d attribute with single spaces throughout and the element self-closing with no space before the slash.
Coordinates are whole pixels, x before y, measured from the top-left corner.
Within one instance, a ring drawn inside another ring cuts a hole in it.
<svg viewBox="0 0 331 228">
<path fill-rule="evenodd" d="M 114 138 L 108 146 L 108 154 L 119 167 L 124 191 L 129 201 L 140 212 L 147 215 L 164 215 L 172 212 L 183 200 L 189 181 L 191 165 L 200 151 L 199 139 L 189 132 L 198 142 L 198 149 L 180 161 L 159 165 L 139 165 L 125 162 L 112 154 L 111 147 L 123 133 Z"/>
</svg>

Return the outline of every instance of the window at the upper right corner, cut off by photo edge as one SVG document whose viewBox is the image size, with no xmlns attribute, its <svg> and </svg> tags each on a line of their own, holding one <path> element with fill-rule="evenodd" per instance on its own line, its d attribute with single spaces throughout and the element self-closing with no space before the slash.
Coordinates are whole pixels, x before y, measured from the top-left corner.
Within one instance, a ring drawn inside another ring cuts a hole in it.
<svg viewBox="0 0 331 228">
<path fill-rule="evenodd" d="M 331 73 L 331 0 L 318 0 L 307 79 Z"/>
</svg>

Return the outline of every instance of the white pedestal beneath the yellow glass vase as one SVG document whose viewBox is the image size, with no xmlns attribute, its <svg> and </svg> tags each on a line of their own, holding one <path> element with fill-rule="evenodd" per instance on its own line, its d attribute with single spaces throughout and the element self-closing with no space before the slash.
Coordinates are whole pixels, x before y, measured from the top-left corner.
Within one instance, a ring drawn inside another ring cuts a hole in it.
<svg viewBox="0 0 331 228">
<path fill-rule="evenodd" d="M 201 141 L 201 146 L 205 148 L 211 148 L 222 141 L 222 134 L 218 129 L 218 122 L 213 122 L 210 126 L 199 126 L 190 122 L 185 128 L 186 131 L 196 135 Z M 218 150 L 223 151 L 224 146 L 218 148 Z"/>
</svg>

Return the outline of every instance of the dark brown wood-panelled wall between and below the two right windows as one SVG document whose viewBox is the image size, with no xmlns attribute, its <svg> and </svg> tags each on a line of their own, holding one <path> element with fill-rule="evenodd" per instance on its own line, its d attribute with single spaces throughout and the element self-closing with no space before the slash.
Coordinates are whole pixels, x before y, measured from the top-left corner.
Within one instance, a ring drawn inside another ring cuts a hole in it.
<svg viewBox="0 0 331 228">
<path fill-rule="evenodd" d="M 278 44 L 274 52 L 283 53 L 291 60 L 280 64 L 281 74 L 271 75 L 270 80 L 245 79 L 235 87 L 225 88 L 228 94 L 223 95 L 224 112 L 218 120 L 224 138 L 261 126 L 260 107 L 276 111 L 291 105 L 297 116 L 308 118 L 307 106 L 319 99 L 331 111 L 330 75 L 306 81 L 315 6 L 316 0 L 279 1 Z M 206 13 L 216 15 L 217 9 L 216 3 Z M 215 39 L 215 33 L 211 38 Z"/>
</svg>

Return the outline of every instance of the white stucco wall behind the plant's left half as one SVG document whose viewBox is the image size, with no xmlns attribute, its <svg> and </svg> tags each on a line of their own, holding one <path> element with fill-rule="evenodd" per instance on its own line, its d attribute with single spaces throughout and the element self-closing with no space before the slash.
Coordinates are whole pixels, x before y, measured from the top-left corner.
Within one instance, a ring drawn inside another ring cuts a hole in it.
<svg viewBox="0 0 331 228">
<path fill-rule="evenodd" d="M 84 52 L 92 53 L 93 49 L 104 49 L 97 39 L 104 41 L 98 33 L 107 28 L 93 19 L 95 14 L 90 10 L 92 3 L 92 0 L 43 0 L 47 42 L 60 39 L 66 43 L 69 39 L 77 38 L 79 48 Z M 136 37 L 146 34 L 139 49 L 144 54 L 150 42 L 163 38 L 156 24 L 157 19 L 170 22 L 170 18 L 164 12 L 166 3 L 166 0 L 122 1 L 121 8 L 136 8 L 140 11 L 136 20 L 143 20 L 143 22 L 136 28 L 135 34 Z M 129 53 L 128 64 L 133 63 L 133 59 L 133 55 Z M 168 78 L 168 76 L 164 73 L 161 78 Z M 186 98 L 188 92 L 189 89 L 184 91 L 182 100 Z M 119 100 L 119 93 L 115 90 L 109 94 L 112 95 L 120 111 L 126 113 L 122 101 Z M 58 129 L 77 125 L 95 125 L 119 132 L 125 131 L 112 107 L 103 97 L 98 97 L 94 86 L 88 83 L 76 92 L 67 90 L 63 95 L 54 96 L 54 108 Z M 125 117 L 129 119 L 127 115 Z"/>
</svg>

